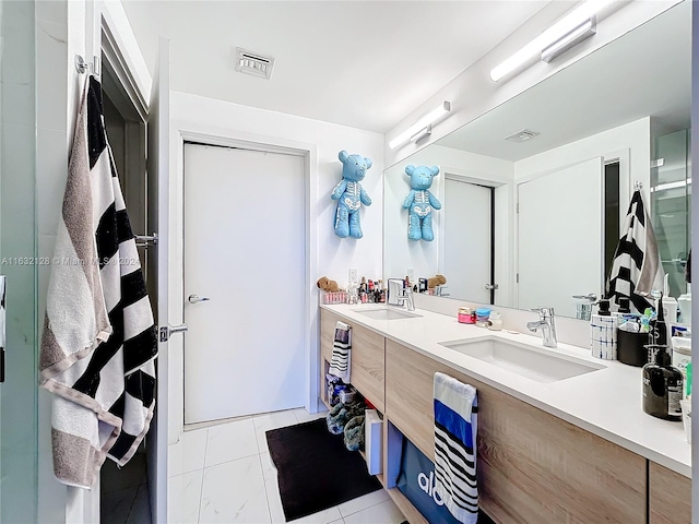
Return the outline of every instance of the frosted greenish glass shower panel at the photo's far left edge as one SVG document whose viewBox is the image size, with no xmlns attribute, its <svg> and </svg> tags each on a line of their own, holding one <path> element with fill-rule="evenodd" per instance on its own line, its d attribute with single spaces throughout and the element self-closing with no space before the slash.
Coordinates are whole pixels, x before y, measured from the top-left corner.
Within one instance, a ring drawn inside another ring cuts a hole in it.
<svg viewBox="0 0 699 524">
<path fill-rule="evenodd" d="M 35 2 L 0 2 L 0 522 L 37 521 Z"/>
</svg>

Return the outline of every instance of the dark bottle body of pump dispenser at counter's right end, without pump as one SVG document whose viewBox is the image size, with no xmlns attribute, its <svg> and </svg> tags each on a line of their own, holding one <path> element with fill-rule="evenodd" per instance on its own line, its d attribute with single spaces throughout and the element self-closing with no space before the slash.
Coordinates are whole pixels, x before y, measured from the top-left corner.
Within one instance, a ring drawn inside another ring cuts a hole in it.
<svg viewBox="0 0 699 524">
<path fill-rule="evenodd" d="M 665 420 L 682 420 L 682 371 L 671 365 L 667 346 L 647 346 L 652 361 L 643 366 L 643 410 Z"/>
</svg>

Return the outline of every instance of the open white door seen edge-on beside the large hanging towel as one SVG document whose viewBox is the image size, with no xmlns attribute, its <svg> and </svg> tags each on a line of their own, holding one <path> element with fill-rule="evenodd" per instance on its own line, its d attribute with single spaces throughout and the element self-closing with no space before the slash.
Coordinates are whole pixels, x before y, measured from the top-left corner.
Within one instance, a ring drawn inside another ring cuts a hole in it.
<svg viewBox="0 0 699 524">
<path fill-rule="evenodd" d="M 151 103 L 149 105 L 149 223 L 158 233 L 157 249 L 149 257 L 149 274 L 155 275 L 158 326 L 169 321 L 169 93 L 170 49 L 169 40 L 159 38 L 158 56 Z M 152 249 L 152 248 L 149 248 Z M 150 278 L 151 285 L 153 278 Z M 153 288 L 149 289 L 153 293 Z M 151 424 L 149 445 L 149 485 L 151 486 L 151 513 L 153 522 L 168 522 L 167 515 L 167 456 L 168 456 L 168 371 L 167 341 L 161 340 L 157 357 L 157 396 L 155 420 Z"/>
</svg>

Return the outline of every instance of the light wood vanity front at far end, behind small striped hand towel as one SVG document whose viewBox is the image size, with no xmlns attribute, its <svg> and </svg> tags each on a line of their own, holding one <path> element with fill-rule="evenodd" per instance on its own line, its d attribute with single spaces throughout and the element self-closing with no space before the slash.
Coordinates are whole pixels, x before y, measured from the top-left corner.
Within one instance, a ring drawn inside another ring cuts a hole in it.
<svg viewBox="0 0 699 524">
<path fill-rule="evenodd" d="M 384 410 L 384 381 L 383 356 L 384 338 L 360 325 L 352 324 L 339 315 L 325 309 L 320 310 L 320 354 L 323 360 L 321 366 L 321 384 L 324 389 L 327 364 L 332 358 L 332 345 L 335 336 L 335 323 L 342 321 L 352 326 L 352 367 L 350 382 L 362 393 L 376 408 Z M 323 394 L 325 394 L 323 392 Z M 327 398 L 323 396 L 327 401 Z"/>
</svg>

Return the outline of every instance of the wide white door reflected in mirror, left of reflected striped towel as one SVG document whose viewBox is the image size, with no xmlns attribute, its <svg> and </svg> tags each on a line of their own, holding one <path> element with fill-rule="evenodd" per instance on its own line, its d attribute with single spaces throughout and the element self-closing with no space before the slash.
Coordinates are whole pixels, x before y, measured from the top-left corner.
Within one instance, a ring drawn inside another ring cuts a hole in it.
<svg viewBox="0 0 699 524">
<path fill-rule="evenodd" d="M 601 296 L 603 158 L 518 186 L 518 307 L 576 315 L 573 295 Z"/>
</svg>

